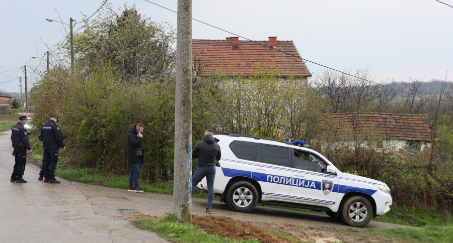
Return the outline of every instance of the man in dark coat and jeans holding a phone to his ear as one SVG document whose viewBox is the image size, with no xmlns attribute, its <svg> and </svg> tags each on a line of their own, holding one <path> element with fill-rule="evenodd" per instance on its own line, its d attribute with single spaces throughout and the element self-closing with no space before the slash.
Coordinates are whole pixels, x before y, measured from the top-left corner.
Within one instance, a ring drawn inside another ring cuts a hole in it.
<svg viewBox="0 0 453 243">
<path fill-rule="evenodd" d="M 131 192 L 143 192 L 138 186 L 138 173 L 140 173 L 140 164 L 143 164 L 143 125 L 137 124 L 129 130 L 127 135 L 127 162 L 130 163 L 129 189 Z"/>
</svg>

